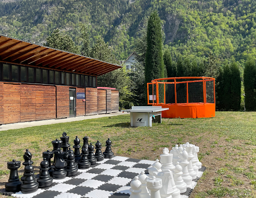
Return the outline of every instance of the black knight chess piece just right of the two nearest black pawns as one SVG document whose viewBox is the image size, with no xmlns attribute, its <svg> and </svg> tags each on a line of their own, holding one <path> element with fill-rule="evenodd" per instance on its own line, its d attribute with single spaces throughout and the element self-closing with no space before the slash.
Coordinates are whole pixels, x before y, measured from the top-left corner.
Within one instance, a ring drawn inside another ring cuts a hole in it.
<svg viewBox="0 0 256 198">
<path fill-rule="evenodd" d="M 67 173 L 64 169 L 67 164 L 64 160 L 62 160 L 64 155 L 66 155 L 66 153 L 61 151 L 54 152 L 55 163 L 53 164 L 54 171 L 52 172 L 52 178 L 55 180 L 62 180 L 66 177 Z"/>
</svg>

